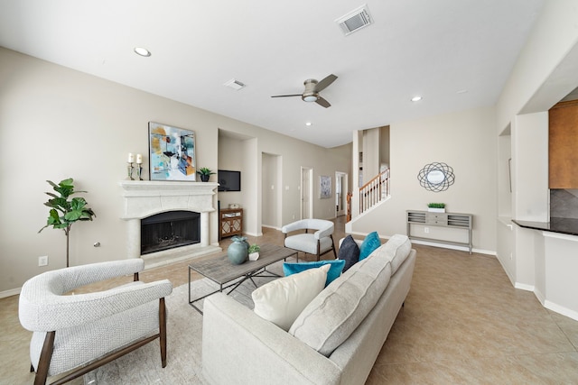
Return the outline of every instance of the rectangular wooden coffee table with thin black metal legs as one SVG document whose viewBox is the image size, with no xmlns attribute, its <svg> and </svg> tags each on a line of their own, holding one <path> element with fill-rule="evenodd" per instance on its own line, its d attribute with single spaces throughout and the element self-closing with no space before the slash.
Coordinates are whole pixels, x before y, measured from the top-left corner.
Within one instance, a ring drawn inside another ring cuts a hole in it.
<svg viewBox="0 0 578 385">
<path fill-rule="evenodd" d="M 227 294 L 230 294 L 234 289 L 245 282 L 251 280 L 256 287 L 253 277 L 279 277 L 271 271 L 266 270 L 266 267 L 276 261 L 286 260 L 291 256 L 297 257 L 297 252 L 293 249 L 287 249 L 282 246 L 275 246 L 275 244 L 263 244 L 260 246 L 259 259 L 256 261 L 246 261 L 240 265 L 234 265 L 228 261 L 227 252 L 220 252 L 214 257 L 203 261 L 193 261 L 189 265 L 189 305 L 194 307 L 200 314 L 202 310 L 195 306 L 195 302 L 203 298 L 209 297 L 224 289 L 231 288 Z M 191 270 L 197 271 L 200 275 L 207 277 L 213 282 L 219 284 L 219 289 L 211 291 L 209 294 L 200 298 L 191 298 Z M 266 275 L 264 275 L 266 274 Z"/>
</svg>

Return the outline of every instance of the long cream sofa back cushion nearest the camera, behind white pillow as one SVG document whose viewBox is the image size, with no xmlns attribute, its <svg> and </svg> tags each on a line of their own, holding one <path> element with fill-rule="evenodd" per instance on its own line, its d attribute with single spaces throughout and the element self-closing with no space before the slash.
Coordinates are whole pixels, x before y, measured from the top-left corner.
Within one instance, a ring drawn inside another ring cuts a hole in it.
<svg viewBox="0 0 578 385">
<path fill-rule="evenodd" d="M 390 278 L 391 263 L 380 253 L 359 261 L 303 309 L 289 334 L 329 356 L 368 315 Z"/>
</svg>

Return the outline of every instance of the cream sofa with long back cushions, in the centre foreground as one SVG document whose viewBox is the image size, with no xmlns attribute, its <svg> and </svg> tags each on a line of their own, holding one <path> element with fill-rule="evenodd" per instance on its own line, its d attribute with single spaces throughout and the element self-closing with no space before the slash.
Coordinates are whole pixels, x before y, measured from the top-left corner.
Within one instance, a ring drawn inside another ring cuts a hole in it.
<svg viewBox="0 0 578 385">
<path fill-rule="evenodd" d="M 362 384 L 410 289 L 415 250 L 394 235 L 303 309 L 289 332 L 218 293 L 205 299 L 202 366 L 213 384 Z"/>
</svg>

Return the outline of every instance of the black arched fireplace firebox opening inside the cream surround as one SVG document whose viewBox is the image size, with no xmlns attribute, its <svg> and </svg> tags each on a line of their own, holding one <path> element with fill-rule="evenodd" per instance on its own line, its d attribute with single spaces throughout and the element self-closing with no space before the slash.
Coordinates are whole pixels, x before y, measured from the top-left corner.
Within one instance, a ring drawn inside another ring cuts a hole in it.
<svg viewBox="0 0 578 385">
<path fill-rule="evenodd" d="M 169 211 L 141 220 L 141 254 L 200 243 L 200 213 Z"/>
</svg>

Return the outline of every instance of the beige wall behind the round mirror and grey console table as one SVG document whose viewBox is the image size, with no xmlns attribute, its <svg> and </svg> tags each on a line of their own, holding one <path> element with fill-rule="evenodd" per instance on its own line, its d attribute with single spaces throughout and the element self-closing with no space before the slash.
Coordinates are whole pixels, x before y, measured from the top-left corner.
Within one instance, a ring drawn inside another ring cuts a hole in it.
<svg viewBox="0 0 578 385">
<path fill-rule="evenodd" d="M 449 212 L 474 215 L 474 249 L 494 252 L 495 124 L 493 107 L 391 124 L 391 198 L 375 212 L 361 215 L 352 231 L 359 234 L 377 231 L 387 237 L 406 234 L 406 210 L 427 210 L 429 202 L 443 202 Z M 428 191 L 419 184 L 419 170 L 434 161 L 453 169 L 455 183 L 446 191 Z"/>
</svg>

